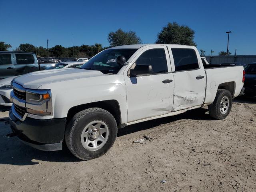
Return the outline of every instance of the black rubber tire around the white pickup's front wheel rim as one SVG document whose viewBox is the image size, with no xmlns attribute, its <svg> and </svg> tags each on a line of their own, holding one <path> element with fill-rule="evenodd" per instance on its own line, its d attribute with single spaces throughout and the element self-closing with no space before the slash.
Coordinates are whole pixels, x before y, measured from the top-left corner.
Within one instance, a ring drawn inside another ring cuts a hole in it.
<svg viewBox="0 0 256 192">
<path fill-rule="evenodd" d="M 101 120 L 108 126 L 108 140 L 104 146 L 96 151 L 86 150 L 81 142 L 84 127 L 94 120 Z M 117 135 L 115 118 L 102 108 L 89 108 L 75 114 L 70 120 L 65 131 L 65 140 L 68 149 L 74 156 L 81 160 L 91 160 L 105 154 L 114 144 Z"/>
</svg>

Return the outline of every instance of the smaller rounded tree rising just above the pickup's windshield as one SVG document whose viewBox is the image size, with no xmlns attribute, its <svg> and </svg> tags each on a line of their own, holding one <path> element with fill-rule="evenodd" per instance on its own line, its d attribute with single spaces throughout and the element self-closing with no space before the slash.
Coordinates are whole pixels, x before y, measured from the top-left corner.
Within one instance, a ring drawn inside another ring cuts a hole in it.
<svg viewBox="0 0 256 192">
<path fill-rule="evenodd" d="M 134 31 L 124 32 L 118 29 L 116 32 L 108 34 L 108 42 L 111 47 L 129 44 L 141 44 L 142 40 L 136 35 Z"/>
</svg>

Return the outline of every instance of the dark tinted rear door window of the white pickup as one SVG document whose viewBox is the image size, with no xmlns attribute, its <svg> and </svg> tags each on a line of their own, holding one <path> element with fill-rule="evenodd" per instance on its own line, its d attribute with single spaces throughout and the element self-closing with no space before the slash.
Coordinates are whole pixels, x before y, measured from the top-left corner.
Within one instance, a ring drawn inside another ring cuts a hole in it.
<svg viewBox="0 0 256 192">
<path fill-rule="evenodd" d="M 194 49 L 172 48 L 175 71 L 194 70 L 199 68 Z"/>
</svg>

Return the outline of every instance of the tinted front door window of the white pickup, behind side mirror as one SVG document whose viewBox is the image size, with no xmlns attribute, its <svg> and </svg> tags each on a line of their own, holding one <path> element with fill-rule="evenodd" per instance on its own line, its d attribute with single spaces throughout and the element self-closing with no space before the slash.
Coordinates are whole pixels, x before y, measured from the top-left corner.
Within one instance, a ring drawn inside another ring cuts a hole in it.
<svg viewBox="0 0 256 192">
<path fill-rule="evenodd" d="M 151 65 L 153 74 L 168 72 L 164 48 L 145 51 L 136 60 L 136 65 Z"/>
</svg>

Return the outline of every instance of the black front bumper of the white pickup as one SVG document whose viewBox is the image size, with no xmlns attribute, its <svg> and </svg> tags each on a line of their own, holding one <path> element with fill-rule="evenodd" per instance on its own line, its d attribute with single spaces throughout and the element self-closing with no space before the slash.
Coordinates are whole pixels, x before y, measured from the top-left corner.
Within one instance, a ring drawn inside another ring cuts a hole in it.
<svg viewBox="0 0 256 192">
<path fill-rule="evenodd" d="M 38 120 L 26 117 L 21 122 L 12 110 L 9 118 L 12 131 L 23 143 L 44 151 L 62 150 L 66 118 Z"/>
</svg>

